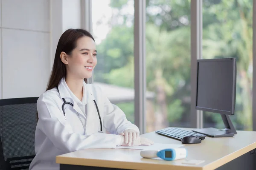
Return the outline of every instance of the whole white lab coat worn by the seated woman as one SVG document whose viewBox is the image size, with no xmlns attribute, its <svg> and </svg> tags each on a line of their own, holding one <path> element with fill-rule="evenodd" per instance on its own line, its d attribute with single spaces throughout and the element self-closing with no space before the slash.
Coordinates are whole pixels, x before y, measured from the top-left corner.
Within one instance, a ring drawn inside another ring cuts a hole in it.
<svg viewBox="0 0 256 170">
<path fill-rule="evenodd" d="M 53 88 L 42 94 L 37 101 L 39 120 L 35 130 L 35 153 L 29 170 L 59 170 L 56 156 L 87 148 L 115 148 L 120 145 L 121 137 L 117 134 L 126 129 L 139 132 L 136 125 L 126 119 L 125 113 L 104 96 L 95 85 L 86 84 L 87 111 L 82 113 L 71 98 L 64 78 L 58 90 Z M 120 94 L 122 95 L 122 94 Z M 66 119 L 61 109 L 64 103 L 61 98 L 73 103 L 64 107 Z M 100 122 L 93 100 L 99 108 L 102 128 L 111 134 L 99 133 Z"/>
</svg>

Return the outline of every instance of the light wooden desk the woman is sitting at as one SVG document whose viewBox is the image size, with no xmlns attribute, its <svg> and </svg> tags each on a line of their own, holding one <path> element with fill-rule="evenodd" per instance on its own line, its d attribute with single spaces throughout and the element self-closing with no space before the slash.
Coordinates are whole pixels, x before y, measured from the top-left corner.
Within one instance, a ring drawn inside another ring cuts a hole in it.
<svg viewBox="0 0 256 170">
<path fill-rule="evenodd" d="M 192 130 L 190 128 L 183 128 Z M 83 169 L 140 169 L 140 170 L 218 170 L 254 168 L 256 160 L 256 132 L 237 131 L 233 137 L 206 137 L 200 144 L 184 144 L 188 151 L 187 159 L 205 160 L 198 165 L 182 164 L 181 160 L 164 161 L 145 159 L 140 156 L 141 150 L 131 149 L 86 149 L 56 157 L 60 170 Z M 181 144 L 180 141 L 155 132 L 141 135 L 155 143 Z M 86 166 L 86 167 L 84 167 Z M 105 167 L 105 168 L 102 168 Z"/>
</svg>

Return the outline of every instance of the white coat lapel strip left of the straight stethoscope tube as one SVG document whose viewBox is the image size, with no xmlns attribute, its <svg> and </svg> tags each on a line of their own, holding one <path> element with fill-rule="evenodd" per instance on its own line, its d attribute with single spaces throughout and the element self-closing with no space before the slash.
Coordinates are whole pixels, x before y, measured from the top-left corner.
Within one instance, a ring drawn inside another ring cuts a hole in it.
<svg viewBox="0 0 256 170">
<path fill-rule="evenodd" d="M 97 113 L 96 105 L 93 102 L 95 100 L 92 92 L 86 87 L 87 90 L 87 122 L 86 122 L 86 133 L 90 135 L 98 132 L 100 129 L 99 116 Z"/>
</svg>

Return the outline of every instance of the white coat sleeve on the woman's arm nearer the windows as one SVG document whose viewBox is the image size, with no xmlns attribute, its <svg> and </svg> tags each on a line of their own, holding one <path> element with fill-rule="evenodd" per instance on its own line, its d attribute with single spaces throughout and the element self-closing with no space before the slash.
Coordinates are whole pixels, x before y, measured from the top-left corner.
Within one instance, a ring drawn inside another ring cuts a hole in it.
<svg viewBox="0 0 256 170">
<path fill-rule="evenodd" d="M 103 93 L 102 93 L 103 94 Z M 126 129 L 133 129 L 140 133 L 139 128 L 126 119 L 125 113 L 109 99 L 104 97 L 104 127 L 112 134 L 122 133 Z"/>
</svg>

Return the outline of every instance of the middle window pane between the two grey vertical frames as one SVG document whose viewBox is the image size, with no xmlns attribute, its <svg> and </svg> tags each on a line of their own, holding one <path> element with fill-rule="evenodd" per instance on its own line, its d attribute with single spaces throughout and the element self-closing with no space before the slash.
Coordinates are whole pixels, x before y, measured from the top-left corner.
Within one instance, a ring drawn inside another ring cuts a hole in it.
<svg viewBox="0 0 256 170">
<path fill-rule="evenodd" d="M 146 2 L 146 132 L 190 127 L 190 0 Z"/>
</svg>

